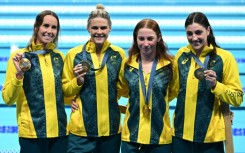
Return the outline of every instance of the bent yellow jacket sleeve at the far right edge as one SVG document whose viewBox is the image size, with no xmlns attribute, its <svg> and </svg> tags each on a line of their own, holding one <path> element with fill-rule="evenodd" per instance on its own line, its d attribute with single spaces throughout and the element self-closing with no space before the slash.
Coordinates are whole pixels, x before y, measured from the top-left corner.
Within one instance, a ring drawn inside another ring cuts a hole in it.
<svg viewBox="0 0 245 153">
<path fill-rule="evenodd" d="M 224 61 L 223 82 L 218 82 L 212 92 L 221 101 L 233 106 L 240 106 L 243 101 L 243 90 L 239 76 L 237 62 L 234 56 L 229 53 Z"/>
</svg>

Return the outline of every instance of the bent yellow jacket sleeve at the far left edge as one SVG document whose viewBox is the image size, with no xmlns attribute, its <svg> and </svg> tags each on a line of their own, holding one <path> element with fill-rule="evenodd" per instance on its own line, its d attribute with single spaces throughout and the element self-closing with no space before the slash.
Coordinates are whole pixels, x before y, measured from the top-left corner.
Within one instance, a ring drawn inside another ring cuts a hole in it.
<svg viewBox="0 0 245 153">
<path fill-rule="evenodd" d="M 5 81 L 2 89 L 2 98 L 7 105 L 14 104 L 20 96 L 21 92 L 23 92 L 23 79 L 18 80 L 16 78 L 17 70 L 13 62 L 13 57 L 16 53 L 17 51 L 13 52 L 9 57 Z"/>
</svg>

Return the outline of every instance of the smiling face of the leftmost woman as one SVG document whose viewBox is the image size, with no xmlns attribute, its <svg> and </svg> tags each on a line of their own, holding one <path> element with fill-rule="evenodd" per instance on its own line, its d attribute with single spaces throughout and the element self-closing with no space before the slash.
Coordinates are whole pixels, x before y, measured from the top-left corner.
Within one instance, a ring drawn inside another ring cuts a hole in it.
<svg viewBox="0 0 245 153">
<path fill-rule="evenodd" d="M 57 27 L 57 19 L 52 15 L 46 15 L 43 18 L 43 23 L 41 24 L 39 29 L 35 28 L 35 30 L 38 30 L 35 43 L 46 45 L 50 42 L 53 42 L 58 32 Z"/>
</svg>

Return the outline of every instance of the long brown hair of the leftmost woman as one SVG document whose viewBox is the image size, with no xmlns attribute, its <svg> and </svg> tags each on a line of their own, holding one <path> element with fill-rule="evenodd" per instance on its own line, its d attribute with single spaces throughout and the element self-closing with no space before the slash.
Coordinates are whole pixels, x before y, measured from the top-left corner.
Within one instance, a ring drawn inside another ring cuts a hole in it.
<svg viewBox="0 0 245 153">
<path fill-rule="evenodd" d="M 40 29 L 40 26 L 43 24 L 43 19 L 46 15 L 52 15 L 53 17 L 55 17 L 57 19 L 57 34 L 56 34 L 56 37 L 54 38 L 53 40 L 53 43 L 55 43 L 55 45 L 57 46 L 57 43 L 58 43 L 58 37 L 59 37 L 59 31 L 60 31 L 60 22 L 59 22 L 59 17 L 57 16 L 56 13 L 54 13 L 53 11 L 51 10 L 45 10 L 45 11 L 42 11 L 40 12 L 37 16 L 36 16 L 36 20 L 35 20 L 35 23 L 34 23 L 34 26 L 33 26 L 33 34 L 32 34 L 32 37 L 27 45 L 26 48 L 30 48 L 31 45 L 32 45 L 32 42 L 36 41 L 37 40 L 37 33 Z"/>
</svg>

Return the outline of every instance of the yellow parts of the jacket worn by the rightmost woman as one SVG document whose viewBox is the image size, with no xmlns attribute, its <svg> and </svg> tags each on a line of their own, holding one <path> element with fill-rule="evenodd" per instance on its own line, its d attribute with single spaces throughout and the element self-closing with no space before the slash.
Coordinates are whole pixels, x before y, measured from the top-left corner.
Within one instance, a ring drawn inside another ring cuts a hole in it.
<svg viewBox="0 0 245 153">
<path fill-rule="evenodd" d="M 213 46 L 206 46 L 203 49 L 199 57 L 202 63 L 204 63 L 206 55 L 212 50 Z M 217 55 L 215 56 L 215 58 L 217 60 L 211 60 L 211 62 L 213 62 L 211 63 L 211 65 L 213 64 L 214 68 L 217 70 L 223 70 L 222 74 L 217 73 L 217 76 L 222 76 L 222 81 L 217 81 L 216 87 L 214 89 L 210 89 L 210 92 L 213 93 L 215 97 L 213 108 L 210 108 L 211 110 L 209 109 L 209 111 L 212 112 L 212 114 L 210 114 L 210 122 L 208 123 L 203 121 L 204 125 L 208 125 L 208 129 L 203 129 L 207 130 L 204 140 L 199 140 L 197 137 L 194 136 L 196 130 L 200 130 L 195 129 L 195 126 L 197 126 L 196 115 L 200 114 L 201 112 L 201 108 L 198 108 L 197 105 L 203 98 L 207 98 L 200 97 L 200 99 L 198 99 L 197 97 L 199 91 L 199 80 L 195 78 L 194 71 L 200 66 L 196 64 L 193 58 L 183 58 L 186 54 L 189 54 L 190 52 L 193 52 L 195 54 L 195 51 L 191 45 L 180 48 L 177 52 L 175 65 L 178 65 L 178 63 L 179 65 L 175 68 L 174 71 L 175 90 L 173 92 L 175 93 L 175 95 L 177 95 L 180 91 L 185 91 L 185 93 L 183 92 L 183 94 L 185 94 L 185 99 L 183 99 L 184 96 L 182 95 L 179 95 L 179 97 L 177 97 L 176 108 L 179 108 L 178 110 L 181 112 L 175 111 L 173 117 L 173 135 L 177 137 L 189 141 L 204 143 L 225 140 L 225 125 L 221 112 L 221 103 L 225 102 L 233 106 L 240 106 L 243 101 L 243 91 L 235 58 L 230 52 L 221 48 L 216 48 L 216 51 Z M 190 63 L 190 65 L 186 66 L 186 68 L 179 69 L 180 66 L 186 65 L 186 63 Z M 215 67 L 215 64 L 223 65 L 223 67 Z M 184 72 L 188 69 L 189 72 Z M 180 72 L 182 71 L 183 73 L 180 75 Z M 180 89 L 180 85 L 184 83 L 180 80 L 180 76 L 183 76 L 185 73 L 187 73 L 187 81 L 185 86 L 186 89 Z M 180 102 L 184 102 L 184 108 L 182 108 L 182 104 Z M 183 118 L 183 126 L 180 125 L 182 123 L 175 123 L 176 114 L 181 113 L 183 113 L 184 115 L 180 116 L 178 118 L 178 121 L 181 121 Z M 178 126 L 178 129 L 183 128 L 183 133 L 180 132 L 181 130 L 178 130 L 178 132 L 176 133 L 176 127 L 174 126 L 174 124 Z"/>
</svg>

